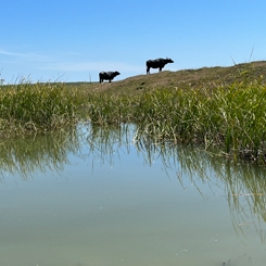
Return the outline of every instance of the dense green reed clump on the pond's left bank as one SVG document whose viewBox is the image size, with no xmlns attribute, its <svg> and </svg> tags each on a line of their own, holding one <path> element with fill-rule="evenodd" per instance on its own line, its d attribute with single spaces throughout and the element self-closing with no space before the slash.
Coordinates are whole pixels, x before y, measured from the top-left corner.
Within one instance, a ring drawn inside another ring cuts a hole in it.
<svg viewBox="0 0 266 266">
<path fill-rule="evenodd" d="M 63 84 L 20 84 L 0 91 L 0 137 L 53 130 L 75 123 L 79 100 Z"/>
</svg>

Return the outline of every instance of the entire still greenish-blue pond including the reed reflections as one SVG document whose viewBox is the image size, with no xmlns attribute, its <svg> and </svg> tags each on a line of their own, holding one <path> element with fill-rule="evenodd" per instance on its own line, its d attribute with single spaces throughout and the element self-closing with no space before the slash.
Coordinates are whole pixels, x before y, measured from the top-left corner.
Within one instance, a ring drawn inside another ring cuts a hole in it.
<svg viewBox="0 0 266 266">
<path fill-rule="evenodd" d="M 266 265 L 266 170 L 132 126 L 0 143 L 0 266 Z"/>
</svg>

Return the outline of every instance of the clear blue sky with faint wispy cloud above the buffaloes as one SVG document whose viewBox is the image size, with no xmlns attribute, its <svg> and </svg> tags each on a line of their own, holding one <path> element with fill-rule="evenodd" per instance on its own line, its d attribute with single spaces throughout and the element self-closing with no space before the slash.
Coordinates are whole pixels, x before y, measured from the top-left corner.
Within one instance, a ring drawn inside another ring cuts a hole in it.
<svg viewBox="0 0 266 266">
<path fill-rule="evenodd" d="M 265 0 L 2 0 L 0 12 L 5 84 L 119 80 L 166 56 L 169 71 L 266 60 Z"/>
</svg>

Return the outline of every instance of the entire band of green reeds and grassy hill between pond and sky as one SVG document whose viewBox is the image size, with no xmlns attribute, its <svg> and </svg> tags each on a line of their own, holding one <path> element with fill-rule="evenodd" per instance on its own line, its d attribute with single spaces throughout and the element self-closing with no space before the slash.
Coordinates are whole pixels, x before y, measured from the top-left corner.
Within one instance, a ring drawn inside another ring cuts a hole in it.
<svg viewBox="0 0 266 266">
<path fill-rule="evenodd" d="M 219 147 L 266 159 L 266 63 L 141 75 L 112 84 L 22 84 L 0 92 L 0 136 L 76 125 L 137 125 L 137 140 Z"/>
</svg>

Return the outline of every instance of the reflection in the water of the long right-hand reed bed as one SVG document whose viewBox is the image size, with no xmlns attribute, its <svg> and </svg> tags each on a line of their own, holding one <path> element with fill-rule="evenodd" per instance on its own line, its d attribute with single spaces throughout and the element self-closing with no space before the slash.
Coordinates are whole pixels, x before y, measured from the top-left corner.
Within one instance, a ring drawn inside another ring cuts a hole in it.
<svg viewBox="0 0 266 266">
<path fill-rule="evenodd" d="M 266 169 L 252 164 L 230 164 L 226 159 L 213 155 L 194 147 L 176 147 L 169 143 L 153 143 L 147 137 L 136 136 L 136 126 L 122 126 L 110 131 L 105 128 L 88 129 L 91 134 L 88 143 L 91 152 L 96 152 L 104 162 L 112 163 L 112 154 L 119 152 L 121 147 L 127 147 L 134 140 L 134 149 L 143 157 L 143 161 L 152 166 L 155 160 L 161 160 L 164 170 L 177 169 L 177 177 L 182 185 L 183 179 L 197 188 L 204 198 L 200 187 L 202 183 L 214 186 L 224 183 L 224 194 L 228 201 L 235 230 L 243 232 L 244 227 L 254 226 L 265 242 L 266 231 L 261 229 L 261 224 L 266 223 Z M 114 145 L 115 144 L 115 145 Z M 115 149 L 116 147 L 116 149 Z M 107 155 L 107 157 L 106 157 Z M 219 181 L 219 182 L 217 182 Z M 215 192 L 214 192 L 215 193 Z"/>
</svg>

